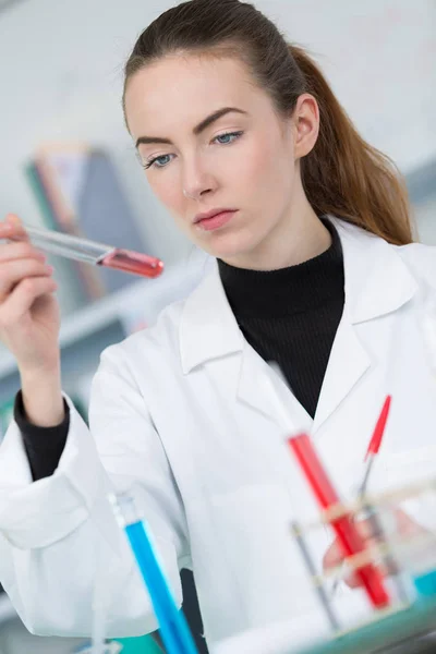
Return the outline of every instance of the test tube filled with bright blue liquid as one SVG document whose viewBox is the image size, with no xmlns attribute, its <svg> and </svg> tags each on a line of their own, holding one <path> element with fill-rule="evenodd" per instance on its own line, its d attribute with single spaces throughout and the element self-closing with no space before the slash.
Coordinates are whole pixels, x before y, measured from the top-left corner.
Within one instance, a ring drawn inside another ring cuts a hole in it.
<svg viewBox="0 0 436 654">
<path fill-rule="evenodd" d="M 148 530 L 129 494 L 110 496 L 118 522 L 124 529 L 159 622 L 168 654 L 198 654 L 183 613 L 177 607 L 155 555 Z"/>
</svg>

